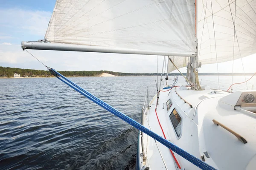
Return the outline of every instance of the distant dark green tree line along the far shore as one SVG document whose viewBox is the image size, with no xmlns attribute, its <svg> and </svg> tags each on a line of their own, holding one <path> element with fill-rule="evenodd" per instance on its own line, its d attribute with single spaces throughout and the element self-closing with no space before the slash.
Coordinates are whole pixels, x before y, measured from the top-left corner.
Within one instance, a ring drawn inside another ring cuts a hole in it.
<svg viewBox="0 0 256 170">
<path fill-rule="evenodd" d="M 113 74 L 115 76 L 154 76 L 156 73 L 120 73 L 113 71 L 58 71 L 60 74 L 67 77 L 92 77 L 99 76 L 102 73 Z M 13 77 L 13 74 L 20 74 L 20 77 L 49 77 L 51 76 L 49 71 L 46 70 L 33 70 L 23 68 L 10 68 L 0 66 L 0 77 Z M 160 75 L 160 74 L 159 74 Z"/>
</svg>

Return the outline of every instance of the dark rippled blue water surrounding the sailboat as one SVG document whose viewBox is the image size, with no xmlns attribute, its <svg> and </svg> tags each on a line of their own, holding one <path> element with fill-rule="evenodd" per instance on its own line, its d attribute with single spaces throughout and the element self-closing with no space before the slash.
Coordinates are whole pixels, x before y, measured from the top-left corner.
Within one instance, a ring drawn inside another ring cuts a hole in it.
<svg viewBox="0 0 256 170">
<path fill-rule="evenodd" d="M 216 76 L 201 78 L 202 85 L 218 88 Z M 137 122 L 147 86 L 150 98 L 156 89 L 156 77 L 70 79 Z M 243 80 L 237 76 L 233 82 Z M 231 77 L 221 76 L 220 82 L 227 90 Z M 256 78 L 248 87 L 252 84 Z M 134 170 L 137 135 L 130 125 L 56 78 L 0 79 L 1 170 Z"/>
</svg>

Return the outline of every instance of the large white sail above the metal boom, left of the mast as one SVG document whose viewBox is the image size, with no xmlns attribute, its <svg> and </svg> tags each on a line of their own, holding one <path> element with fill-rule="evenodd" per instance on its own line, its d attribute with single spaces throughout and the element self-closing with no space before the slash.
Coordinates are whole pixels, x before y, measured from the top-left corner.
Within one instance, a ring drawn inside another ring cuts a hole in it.
<svg viewBox="0 0 256 170">
<path fill-rule="evenodd" d="M 193 0 L 57 0 L 49 42 L 195 53 Z"/>
</svg>

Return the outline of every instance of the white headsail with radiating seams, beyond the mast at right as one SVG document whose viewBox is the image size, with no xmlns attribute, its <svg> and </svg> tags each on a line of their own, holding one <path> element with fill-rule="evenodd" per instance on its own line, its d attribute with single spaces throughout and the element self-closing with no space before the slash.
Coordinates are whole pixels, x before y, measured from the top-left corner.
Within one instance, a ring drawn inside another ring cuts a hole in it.
<svg viewBox="0 0 256 170">
<path fill-rule="evenodd" d="M 256 53 L 255 0 L 198 1 L 198 60 L 226 62 Z M 174 57 L 178 68 L 186 66 Z M 169 64 L 168 71 L 176 68 Z"/>
</svg>

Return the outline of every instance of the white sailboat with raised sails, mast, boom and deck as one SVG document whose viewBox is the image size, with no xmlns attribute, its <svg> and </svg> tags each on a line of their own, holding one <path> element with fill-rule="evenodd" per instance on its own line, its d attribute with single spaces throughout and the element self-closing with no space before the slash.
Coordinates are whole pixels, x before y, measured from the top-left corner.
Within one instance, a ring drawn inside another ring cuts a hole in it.
<svg viewBox="0 0 256 170">
<path fill-rule="evenodd" d="M 22 48 L 157 55 L 168 72 L 185 66 L 186 82 L 161 87 L 161 79 L 142 125 L 131 123 L 141 130 L 137 170 L 255 170 L 256 91 L 198 79 L 202 64 L 256 53 L 255 11 L 255 0 L 57 0 L 44 39 Z"/>
</svg>

